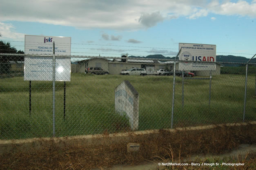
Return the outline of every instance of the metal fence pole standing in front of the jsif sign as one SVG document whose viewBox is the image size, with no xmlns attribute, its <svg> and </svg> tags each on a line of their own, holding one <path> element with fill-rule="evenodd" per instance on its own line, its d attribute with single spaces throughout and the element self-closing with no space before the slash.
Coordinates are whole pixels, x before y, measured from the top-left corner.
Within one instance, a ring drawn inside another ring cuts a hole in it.
<svg viewBox="0 0 256 170">
<path fill-rule="evenodd" d="M 52 67 L 52 82 L 53 82 L 53 137 L 55 137 L 55 42 L 53 42 L 53 67 Z"/>
</svg>

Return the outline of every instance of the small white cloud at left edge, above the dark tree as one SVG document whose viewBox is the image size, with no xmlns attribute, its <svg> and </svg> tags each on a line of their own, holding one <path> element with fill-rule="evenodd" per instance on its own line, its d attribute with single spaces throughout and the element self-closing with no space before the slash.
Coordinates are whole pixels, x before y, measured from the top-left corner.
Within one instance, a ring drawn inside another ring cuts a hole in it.
<svg viewBox="0 0 256 170">
<path fill-rule="evenodd" d="M 15 39 L 15 40 L 24 40 L 24 34 L 17 33 L 12 24 L 6 24 L 0 22 L 0 34 L 1 38 L 4 39 Z"/>
</svg>

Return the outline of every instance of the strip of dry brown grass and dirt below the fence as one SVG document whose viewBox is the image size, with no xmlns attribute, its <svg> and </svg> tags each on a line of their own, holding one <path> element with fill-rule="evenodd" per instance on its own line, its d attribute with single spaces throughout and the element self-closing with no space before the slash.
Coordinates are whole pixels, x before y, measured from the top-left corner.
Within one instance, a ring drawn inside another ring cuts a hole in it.
<svg viewBox="0 0 256 170">
<path fill-rule="evenodd" d="M 116 168 L 125 170 L 126 167 L 131 169 L 149 161 L 157 168 L 154 163 L 161 160 L 225 154 L 239 149 L 241 144 L 253 147 L 256 144 L 255 124 L 195 129 L 197 130 L 155 130 L 146 134 L 131 132 L 125 137 L 116 138 L 113 134 L 104 134 L 93 137 L 90 141 L 79 138 L 74 138 L 72 142 L 65 138 L 38 139 L 29 147 L 25 143 L 13 141 L 8 149 L 6 145 L 0 144 L 0 169 L 89 170 L 114 169 L 113 166 L 121 165 Z M 140 144 L 139 150 L 127 152 L 128 143 Z M 141 168 L 147 168 L 146 165 L 143 164 Z"/>
</svg>

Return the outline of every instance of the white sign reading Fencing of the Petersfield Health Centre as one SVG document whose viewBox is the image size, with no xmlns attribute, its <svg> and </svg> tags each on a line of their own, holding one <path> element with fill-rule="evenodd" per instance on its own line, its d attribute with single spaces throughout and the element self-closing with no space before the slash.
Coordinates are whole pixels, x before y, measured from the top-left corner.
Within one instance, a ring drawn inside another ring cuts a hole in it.
<svg viewBox="0 0 256 170">
<path fill-rule="evenodd" d="M 71 55 L 70 37 L 53 37 L 25 35 L 25 54 L 53 55 L 53 42 L 55 42 L 56 55 L 56 81 L 70 81 L 70 57 L 58 55 Z M 24 58 L 24 80 L 52 81 L 53 58 L 28 56 Z"/>
</svg>

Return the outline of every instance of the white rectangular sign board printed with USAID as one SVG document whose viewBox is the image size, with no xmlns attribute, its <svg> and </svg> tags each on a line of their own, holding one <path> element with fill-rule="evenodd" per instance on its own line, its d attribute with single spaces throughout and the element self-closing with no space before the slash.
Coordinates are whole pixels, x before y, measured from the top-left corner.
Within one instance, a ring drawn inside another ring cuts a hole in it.
<svg viewBox="0 0 256 170">
<path fill-rule="evenodd" d="M 195 62 L 180 62 L 179 70 L 189 71 L 207 71 L 216 70 L 216 64 L 213 63 L 198 63 L 202 62 L 216 62 L 216 45 L 209 44 L 189 44 L 179 43 L 179 60 L 195 61 Z"/>
</svg>

